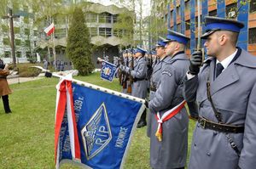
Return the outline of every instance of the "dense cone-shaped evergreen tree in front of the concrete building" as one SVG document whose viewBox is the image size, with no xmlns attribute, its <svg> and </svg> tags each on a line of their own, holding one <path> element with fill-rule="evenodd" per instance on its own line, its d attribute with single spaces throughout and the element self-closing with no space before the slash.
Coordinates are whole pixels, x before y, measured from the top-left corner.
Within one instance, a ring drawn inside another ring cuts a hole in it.
<svg viewBox="0 0 256 169">
<path fill-rule="evenodd" d="M 72 60 L 79 74 L 86 76 L 94 70 L 91 55 L 90 34 L 85 24 L 84 12 L 76 7 L 68 30 L 67 57 Z"/>
</svg>

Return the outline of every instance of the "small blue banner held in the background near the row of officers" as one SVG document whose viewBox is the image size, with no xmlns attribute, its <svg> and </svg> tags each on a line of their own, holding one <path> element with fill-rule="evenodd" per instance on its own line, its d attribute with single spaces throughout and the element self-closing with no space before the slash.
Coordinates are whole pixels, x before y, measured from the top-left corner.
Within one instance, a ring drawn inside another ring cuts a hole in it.
<svg viewBox="0 0 256 169">
<path fill-rule="evenodd" d="M 113 76 L 116 72 L 116 65 L 113 65 L 107 61 L 102 61 L 102 72 L 101 77 L 109 82 L 113 81 Z"/>
</svg>

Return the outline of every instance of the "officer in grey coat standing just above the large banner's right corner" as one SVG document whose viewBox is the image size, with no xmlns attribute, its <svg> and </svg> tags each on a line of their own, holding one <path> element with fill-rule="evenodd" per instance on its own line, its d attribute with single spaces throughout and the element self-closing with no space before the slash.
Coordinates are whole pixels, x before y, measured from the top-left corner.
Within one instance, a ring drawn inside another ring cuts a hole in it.
<svg viewBox="0 0 256 169">
<path fill-rule="evenodd" d="M 146 50 L 143 48 L 137 48 L 135 51 L 134 69 L 131 70 L 131 68 L 127 66 L 124 68 L 125 71 L 133 77 L 131 95 L 141 99 L 145 99 L 147 96 L 147 81 L 145 80 L 147 65 L 146 60 L 144 59 L 145 53 Z M 137 127 L 144 127 L 147 125 L 146 115 L 146 111 L 144 111 Z"/>
</svg>

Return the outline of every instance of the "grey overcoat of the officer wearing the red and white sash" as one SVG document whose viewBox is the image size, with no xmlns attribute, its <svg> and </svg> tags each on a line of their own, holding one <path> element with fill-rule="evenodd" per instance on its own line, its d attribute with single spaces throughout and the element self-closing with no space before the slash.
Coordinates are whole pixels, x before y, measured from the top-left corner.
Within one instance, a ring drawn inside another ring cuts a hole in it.
<svg viewBox="0 0 256 169">
<path fill-rule="evenodd" d="M 150 165 L 154 169 L 179 168 L 186 164 L 189 117 L 185 108 L 162 124 L 162 142 L 154 136 L 158 127 L 154 114 L 160 112 L 161 116 L 166 110 L 183 101 L 183 76 L 188 67 L 189 60 L 184 53 L 178 53 L 168 63 L 163 63 L 157 90 L 148 104 L 153 114 L 150 131 Z"/>
</svg>

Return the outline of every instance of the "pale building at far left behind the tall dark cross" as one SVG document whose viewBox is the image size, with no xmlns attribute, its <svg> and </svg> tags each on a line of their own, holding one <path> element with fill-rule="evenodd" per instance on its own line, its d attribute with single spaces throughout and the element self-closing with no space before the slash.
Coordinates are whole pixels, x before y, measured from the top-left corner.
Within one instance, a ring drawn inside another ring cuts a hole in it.
<svg viewBox="0 0 256 169">
<path fill-rule="evenodd" d="M 15 56 L 17 63 L 28 62 L 32 57 L 34 48 L 38 45 L 38 31 L 33 25 L 32 10 L 22 5 L 20 8 L 13 10 L 14 18 L 14 33 L 15 33 Z M 9 19 L 0 20 L 0 57 L 5 63 L 12 62 L 11 47 L 10 47 L 10 31 Z"/>
</svg>

